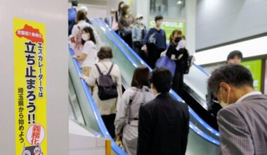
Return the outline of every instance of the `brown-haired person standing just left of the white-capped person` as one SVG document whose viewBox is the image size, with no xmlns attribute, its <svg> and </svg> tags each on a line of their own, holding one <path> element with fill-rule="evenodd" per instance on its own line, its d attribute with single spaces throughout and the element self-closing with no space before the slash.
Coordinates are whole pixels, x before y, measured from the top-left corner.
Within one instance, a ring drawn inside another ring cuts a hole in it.
<svg viewBox="0 0 267 155">
<path fill-rule="evenodd" d="M 130 6 L 122 6 L 122 16 L 119 17 L 119 35 L 130 47 L 132 46 L 131 30 L 135 20 L 131 15 Z"/>
</svg>

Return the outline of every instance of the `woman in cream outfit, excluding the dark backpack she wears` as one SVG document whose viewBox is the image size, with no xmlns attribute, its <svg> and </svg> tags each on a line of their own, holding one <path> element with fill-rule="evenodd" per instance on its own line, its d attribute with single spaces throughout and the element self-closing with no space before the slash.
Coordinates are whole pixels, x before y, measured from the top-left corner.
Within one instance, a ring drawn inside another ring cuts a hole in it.
<svg viewBox="0 0 267 155">
<path fill-rule="evenodd" d="M 101 47 L 100 51 L 98 52 L 98 58 L 100 61 L 97 63 L 97 65 L 99 66 L 101 73 L 106 75 L 112 66 L 112 49 L 110 46 Z M 89 86 L 93 87 L 93 99 L 98 106 L 98 110 L 101 114 L 103 122 L 105 123 L 105 127 L 108 129 L 108 132 L 110 132 L 111 137 L 115 137 L 114 120 L 116 112 L 119 109 L 120 98 L 122 97 L 122 78 L 119 66 L 114 64 L 110 75 L 112 76 L 113 82 L 117 84 L 118 97 L 103 101 L 98 97 L 98 86 L 96 85 L 96 82 L 99 83 L 98 79 L 100 77 L 100 73 L 98 72 L 96 66 L 92 67 L 89 77 L 81 75 L 81 78 L 83 78 Z"/>
</svg>

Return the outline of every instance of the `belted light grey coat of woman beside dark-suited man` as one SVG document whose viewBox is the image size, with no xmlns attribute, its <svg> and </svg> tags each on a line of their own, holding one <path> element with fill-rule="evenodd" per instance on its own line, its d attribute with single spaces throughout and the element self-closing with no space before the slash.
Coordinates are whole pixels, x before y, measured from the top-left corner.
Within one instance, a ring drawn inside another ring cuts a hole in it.
<svg viewBox="0 0 267 155">
<path fill-rule="evenodd" d="M 141 104 L 145 104 L 152 99 L 154 99 L 154 94 L 146 86 L 143 86 L 142 89 L 131 87 L 122 95 L 122 101 L 115 119 L 115 133 L 122 133 L 124 151 L 129 155 L 136 155 L 139 108 Z"/>
</svg>

